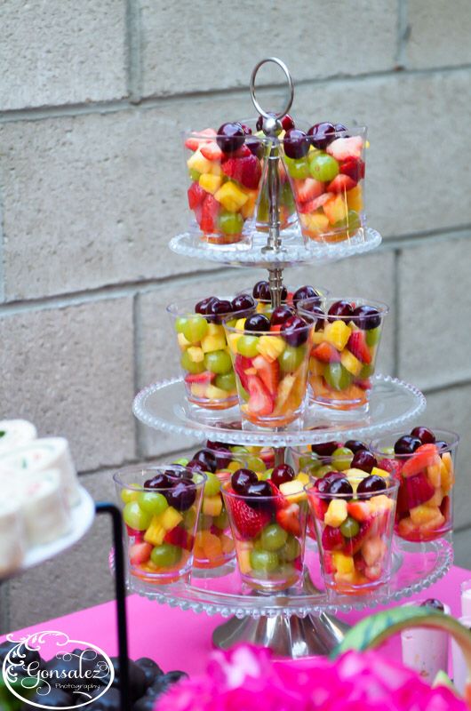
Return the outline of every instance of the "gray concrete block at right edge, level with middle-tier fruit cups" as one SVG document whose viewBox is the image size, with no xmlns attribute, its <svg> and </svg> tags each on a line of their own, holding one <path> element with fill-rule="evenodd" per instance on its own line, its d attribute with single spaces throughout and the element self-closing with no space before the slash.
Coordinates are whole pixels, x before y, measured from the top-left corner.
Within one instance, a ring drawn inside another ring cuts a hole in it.
<svg viewBox="0 0 471 711">
<path fill-rule="evenodd" d="M 469 239 L 420 243 L 399 262 L 399 373 L 419 387 L 471 379 Z"/>
</svg>

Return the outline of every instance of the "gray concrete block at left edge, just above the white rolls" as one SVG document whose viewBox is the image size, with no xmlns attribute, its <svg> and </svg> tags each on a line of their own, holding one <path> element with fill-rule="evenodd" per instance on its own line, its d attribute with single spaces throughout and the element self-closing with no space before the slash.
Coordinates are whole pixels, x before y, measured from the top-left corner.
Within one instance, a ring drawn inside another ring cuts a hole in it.
<svg viewBox="0 0 471 711">
<path fill-rule="evenodd" d="M 132 300 L 0 316 L 2 412 L 63 435 L 79 470 L 134 456 Z"/>
</svg>

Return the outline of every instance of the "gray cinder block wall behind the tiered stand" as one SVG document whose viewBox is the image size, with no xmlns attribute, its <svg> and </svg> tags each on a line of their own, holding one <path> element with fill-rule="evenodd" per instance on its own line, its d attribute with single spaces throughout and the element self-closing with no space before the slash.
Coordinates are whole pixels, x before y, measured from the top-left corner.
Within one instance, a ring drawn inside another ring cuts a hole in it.
<svg viewBox="0 0 471 711">
<path fill-rule="evenodd" d="M 277 54 L 295 115 L 369 124 L 368 212 L 384 236 L 287 281 L 391 305 L 381 370 L 424 389 L 423 422 L 463 437 L 456 544 L 471 563 L 470 0 L 5 0 L 0 22 L 2 415 L 67 436 L 97 498 L 113 496 L 114 467 L 181 451 L 131 413 L 138 388 L 177 369 L 164 306 L 261 273 L 168 250 L 188 220 L 180 130 L 251 116 L 251 68 Z M 278 78 L 259 92 L 268 105 Z M 109 546 L 96 523 L 1 587 L 0 626 L 108 599 Z"/>
</svg>

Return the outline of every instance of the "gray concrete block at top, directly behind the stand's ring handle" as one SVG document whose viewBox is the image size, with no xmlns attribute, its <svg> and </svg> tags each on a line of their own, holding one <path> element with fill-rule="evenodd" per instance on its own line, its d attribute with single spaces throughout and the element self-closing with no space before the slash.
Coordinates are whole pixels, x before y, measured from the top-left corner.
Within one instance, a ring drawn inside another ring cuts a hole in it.
<svg viewBox="0 0 471 711">
<path fill-rule="evenodd" d="M 261 0 L 256 14 L 248 0 L 140 0 L 140 12 L 145 96 L 248 86 L 255 63 L 274 54 L 297 80 L 364 74 L 395 63 L 396 8 L 387 0 L 360 0 L 348 10 L 333 0 L 328 11 L 320 0 Z M 282 77 L 260 70 L 259 83 Z"/>
</svg>

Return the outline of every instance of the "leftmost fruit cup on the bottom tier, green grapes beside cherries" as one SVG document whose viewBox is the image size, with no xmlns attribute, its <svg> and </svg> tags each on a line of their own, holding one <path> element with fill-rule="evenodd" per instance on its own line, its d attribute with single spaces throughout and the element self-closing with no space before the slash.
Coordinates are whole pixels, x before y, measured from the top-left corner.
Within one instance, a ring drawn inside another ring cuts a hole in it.
<svg viewBox="0 0 471 711">
<path fill-rule="evenodd" d="M 172 464 L 126 467 L 113 479 L 131 575 L 156 584 L 185 576 L 193 563 L 206 476 Z"/>
</svg>

